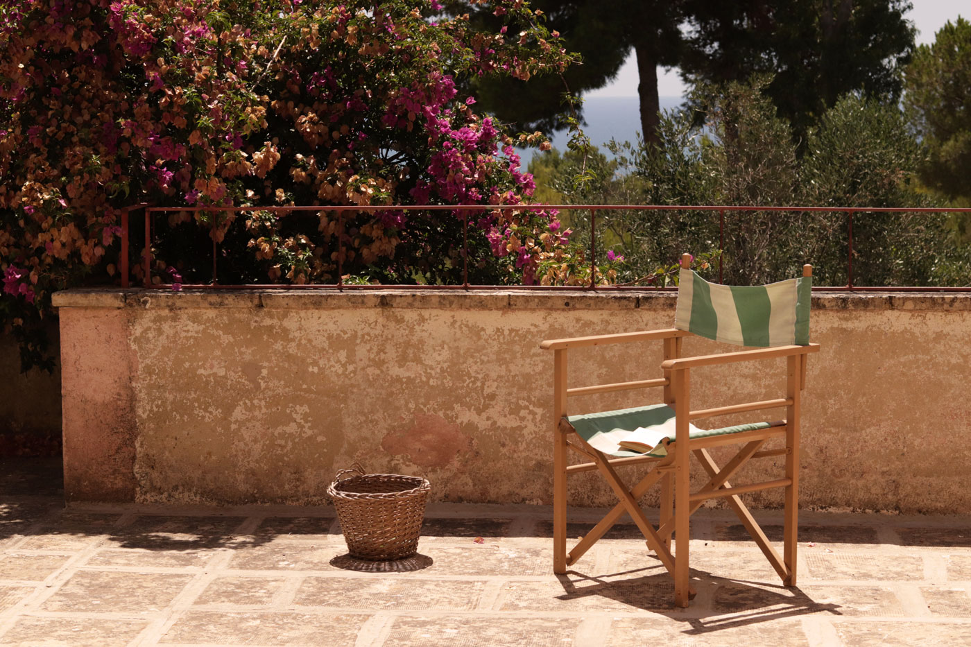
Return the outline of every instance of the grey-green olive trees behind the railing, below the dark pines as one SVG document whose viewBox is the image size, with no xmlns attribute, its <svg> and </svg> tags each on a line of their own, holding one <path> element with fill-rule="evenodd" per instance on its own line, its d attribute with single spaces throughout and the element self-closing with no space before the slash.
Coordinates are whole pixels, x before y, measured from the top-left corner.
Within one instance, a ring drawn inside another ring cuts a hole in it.
<svg viewBox="0 0 971 647">
<path fill-rule="evenodd" d="M 755 85 L 708 88 L 704 126 L 687 111 L 661 119 L 657 146 L 612 144 L 602 153 L 547 153 L 530 171 L 544 199 L 573 203 L 820 207 L 921 207 L 933 202 L 916 183 L 921 149 L 900 111 L 846 95 L 810 131 L 797 156 L 790 127 Z M 579 189 L 581 167 L 594 181 Z M 718 212 L 598 214 L 606 254 L 623 255 L 618 281 L 644 276 L 684 250 L 720 248 Z M 587 214 L 572 213 L 577 242 L 588 244 Z M 725 210 L 723 278 L 751 284 L 817 266 L 821 285 L 847 282 L 848 214 Z M 855 285 L 967 285 L 971 257 L 946 219 L 920 213 L 854 214 Z"/>
</svg>

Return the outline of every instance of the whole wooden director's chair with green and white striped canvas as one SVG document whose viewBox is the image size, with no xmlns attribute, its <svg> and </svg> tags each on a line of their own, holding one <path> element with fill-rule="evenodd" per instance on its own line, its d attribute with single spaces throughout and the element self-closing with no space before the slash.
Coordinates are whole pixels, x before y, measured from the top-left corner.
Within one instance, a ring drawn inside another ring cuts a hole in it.
<svg viewBox="0 0 971 647">
<path fill-rule="evenodd" d="M 690 267 L 690 255 L 683 255 L 679 274 L 678 308 L 675 327 L 662 330 L 625 332 L 552 339 L 541 348 L 552 350 L 553 358 L 553 571 L 566 572 L 586 551 L 617 523 L 623 513 L 630 515 L 647 539 L 648 546 L 674 577 L 675 604 L 685 607 L 694 596 L 688 577 L 688 539 L 690 515 L 710 498 L 724 498 L 786 586 L 796 583 L 796 532 L 799 487 L 799 409 L 806 381 L 806 359 L 820 350 L 809 343 L 809 307 L 812 266 L 803 267 L 803 277 L 769 286 L 729 287 L 710 284 Z M 762 347 L 755 350 L 682 357 L 685 337 L 699 335 L 739 346 Z M 661 363 L 663 377 L 568 389 L 567 353 L 570 349 L 660 340 L 664 345 Z M 731 404 L 711 409 L 690 408 L 691 370 L 704 366 L 786 358 L 784 397 L 757 402 Z M 632 389 L 663 389 L 663 403 L 647 406 L 567 415 L 569 397 Z M 747 425 L 700 429 L 692 422 L 728 414 L 786 408 L 786 420 Z M 638 427 L 669 430 L 669 435 L 650 454 L 621 449 L 619 441 Z M 773 438 L 785 438 L 786 447 L 762 450 Z M 742 448 L 723 467 L 709 449 L 741 444 Z M 567 465 L 567 449 L 587 462 Z M 701 464 L 708 483 L 690 492 L 690 457 Z M 732 486 L 729 479 L 751 459 L 786 457 L 783 478 L 763 483 Z M 633 488 L 619 478 L 620 465 L 653 463 Z M 619 502 L 579 543 L 566 550 L 566 477 L 569 474 L 598 470 L 617 494 Z M 660 520 L 657 528 L 648 521 L 638 500 L 653 486 L 660 485 Z M 765 533 L 755 523 L 742 502 L 741 494 L 772 488 L 785 488 L 784 555 L 780 557 Z M 671 553 L 674 533 L 675 551 Z"/>
</svg>

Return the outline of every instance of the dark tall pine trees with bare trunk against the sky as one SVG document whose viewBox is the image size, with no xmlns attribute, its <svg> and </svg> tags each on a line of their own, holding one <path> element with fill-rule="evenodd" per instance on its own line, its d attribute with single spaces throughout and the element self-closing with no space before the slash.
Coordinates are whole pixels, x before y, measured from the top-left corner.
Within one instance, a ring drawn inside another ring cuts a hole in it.
<svg viewBox="0 0 971 647">
<path fill-rule="evenodd" d="M 473 25 L 492 30 L 495 17 L 474 5 L 454 0 L 451 6 L 455 12 L 471 7 Z M 625 57 L 636 54 L 642 134 L 655 144 L 658 65 L 679 66 L 690 84 L 774 75 L 765 91 L 802 142 L 847 92 L 896 100 L 900 69 L 914 46 L 914 29 L 903 17 L 911 8 L 907 0 L 542 0 L 537 6 L 567 48 L 583 56 L 584 64 L 565 75 L 576 94 L 606 85 Z M 490 78 L 475 86 L 500 119 L 527 129 L 561 125 L 559 97 L 567 88 L 558 77 Z"/>
</svg>

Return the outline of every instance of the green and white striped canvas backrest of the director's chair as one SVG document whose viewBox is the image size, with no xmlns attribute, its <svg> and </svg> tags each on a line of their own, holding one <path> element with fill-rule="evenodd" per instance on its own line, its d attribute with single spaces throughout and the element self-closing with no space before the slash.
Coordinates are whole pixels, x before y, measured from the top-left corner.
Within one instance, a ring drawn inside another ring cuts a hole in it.
<svg viewBox="0 0 971 647">
<path fill-rule="evenodd" d="M 805 346 L 812 287 L 813 277 L 722 286 L 682 268 L 674 327 L 738 346 Z"/>
</svg>

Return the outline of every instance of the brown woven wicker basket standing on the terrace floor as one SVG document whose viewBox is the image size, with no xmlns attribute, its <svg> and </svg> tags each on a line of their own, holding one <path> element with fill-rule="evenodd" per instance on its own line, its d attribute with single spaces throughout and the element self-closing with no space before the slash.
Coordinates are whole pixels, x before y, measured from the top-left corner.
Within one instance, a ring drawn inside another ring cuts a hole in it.
<svg viewBox="0 0 971 647">
<path fill-rule="evenodd" d="M 337 472 L 327 494 L 351 557 L 378 561 L 415 555 L 429 490 L 419 476 L 365 474 L 356 463 Z"/>
</svg>

